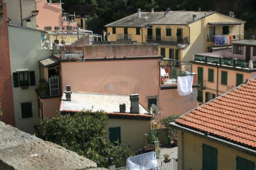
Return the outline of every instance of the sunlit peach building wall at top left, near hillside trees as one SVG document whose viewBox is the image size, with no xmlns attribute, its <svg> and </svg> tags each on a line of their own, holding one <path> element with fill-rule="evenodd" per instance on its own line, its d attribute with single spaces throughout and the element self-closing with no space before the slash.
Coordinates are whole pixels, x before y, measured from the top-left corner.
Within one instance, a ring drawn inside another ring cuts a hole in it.
<svg viewBox="0 0 256 170">
<path fill-rule="evenodd" d="M 47 4 L 46 0 L 36 3 L 36 10 L 39 10 L 36 16 L 36 23 L 39 30 L 44 30 L 50 26 L 54 30 L 55 26 L 62 26 L 62 12 L 60 3 Z"/>
</svg>

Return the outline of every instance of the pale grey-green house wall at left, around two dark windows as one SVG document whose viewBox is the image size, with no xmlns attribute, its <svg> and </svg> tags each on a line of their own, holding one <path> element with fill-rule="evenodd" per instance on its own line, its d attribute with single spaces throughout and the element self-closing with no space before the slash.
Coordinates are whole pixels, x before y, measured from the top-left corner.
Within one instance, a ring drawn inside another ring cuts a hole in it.
<svg viewBox="0 0 256 170">
<path fill-rule="evenodd" d="M 35 71 L 35 86 L 28 89 L 13 87 L 14 113 L 16 127 L 25 132 L 33 133 L 33 126 L 39 123 L 37 94 L 35 88 L 39 81 L 38 61 L 48 58 L 52 50 L 41 50 L 41 32 L 9 26 L 9 43 L 11 72 L 18 69 Z M 11 78 L 12 80 L 12 78 Z M 33 117 L 22 118 L 21 103 L 31 102 Z"/>
</svg>

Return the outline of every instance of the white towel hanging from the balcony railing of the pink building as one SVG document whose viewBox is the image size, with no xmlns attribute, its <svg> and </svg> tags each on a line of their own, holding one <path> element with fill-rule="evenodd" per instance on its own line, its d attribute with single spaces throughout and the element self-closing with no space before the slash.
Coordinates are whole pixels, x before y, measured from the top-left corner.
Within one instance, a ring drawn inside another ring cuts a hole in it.
<svg viewBox="0 0 256 170">
<path fill-rule="evenodd" d="M 178 85 L 177 90 L 180 95 L 190 94 L 193 91 L 192 89 L 193 76 L 178 77 L 177 85 Z"/>
</svg>

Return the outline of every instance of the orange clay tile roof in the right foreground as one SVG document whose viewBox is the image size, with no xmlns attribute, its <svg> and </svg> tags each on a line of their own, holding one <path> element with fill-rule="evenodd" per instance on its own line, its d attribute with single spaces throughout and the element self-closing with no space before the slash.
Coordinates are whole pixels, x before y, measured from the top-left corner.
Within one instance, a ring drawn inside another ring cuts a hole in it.
<svg viewBox="0 0 256 170">
<path fill-rule="evenodd" d="M 180 116 L 175 122 L 256 148 L 256 78 Z"/>
</svg>

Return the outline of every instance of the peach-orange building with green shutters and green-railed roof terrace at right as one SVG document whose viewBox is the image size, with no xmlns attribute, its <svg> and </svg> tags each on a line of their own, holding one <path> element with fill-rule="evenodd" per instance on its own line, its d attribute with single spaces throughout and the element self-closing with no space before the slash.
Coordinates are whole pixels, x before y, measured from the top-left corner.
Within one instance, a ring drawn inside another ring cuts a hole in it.
<svg viewBox="0 0 256 170">
<path fill-rule="evenodd" d="M 201 85 L 199 104 L 256 77 L 256 40 L 238 40 L 232 44 L 232 52 L 194 55 L 192 70 L 197 73 Z"/>
</svg>

